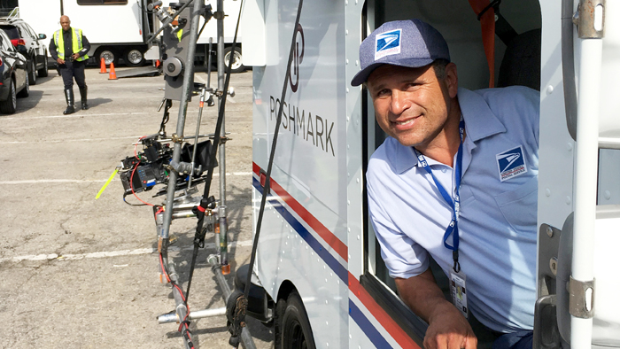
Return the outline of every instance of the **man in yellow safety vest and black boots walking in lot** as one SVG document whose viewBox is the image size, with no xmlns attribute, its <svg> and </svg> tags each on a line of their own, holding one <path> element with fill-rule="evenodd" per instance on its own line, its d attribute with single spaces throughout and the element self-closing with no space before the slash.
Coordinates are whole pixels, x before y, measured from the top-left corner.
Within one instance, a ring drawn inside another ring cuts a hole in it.
<svg viewBox="0 0 620 349">
<path fill-rule="evenodd" d="M 84 66 L 86 66 L 90 50 L 89 40 L 81 33 L 81 29 L 71 27 L 71 20 L 67 16 L 60 17 L 60 27 L 50 41 L 50 55 L 58 63 L 58 72 L 65 83 L 66 111 L 64 114 L 75 112 L 74 78 L 80 88 L 81 109 L 89 109 Z"/>
</svg>

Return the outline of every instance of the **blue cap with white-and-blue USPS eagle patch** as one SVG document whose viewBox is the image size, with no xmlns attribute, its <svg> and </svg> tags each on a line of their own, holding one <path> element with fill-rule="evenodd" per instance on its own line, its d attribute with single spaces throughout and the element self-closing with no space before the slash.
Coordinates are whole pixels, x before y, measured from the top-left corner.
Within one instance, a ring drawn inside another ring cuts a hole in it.
<svg viewBox="0 0 620 349">
<path fill-rule="evenodd" d="M 351 85 L 361 85 L 384 64 L 417 68 L 436 59 L 450 61 L 448 44 L 437 29 L 420 19 L 387 22 L 361 42 L 361 70 L 353 76 Z"/>
</svg>

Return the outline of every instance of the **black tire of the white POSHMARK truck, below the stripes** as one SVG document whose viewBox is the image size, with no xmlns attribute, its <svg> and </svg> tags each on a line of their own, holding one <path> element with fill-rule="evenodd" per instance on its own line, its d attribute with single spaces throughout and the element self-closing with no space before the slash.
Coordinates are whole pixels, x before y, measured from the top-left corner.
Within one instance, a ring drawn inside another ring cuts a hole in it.
<svg viewBox="0 0 620 349">
<path fill-rule="evenodd" d="M 297 292 L 289 295 L 282 320 L 276 326 L 282 328 L 275 330 L 280 336 L 276 341 L 280 346 L 275 349 L 316 349 L 306 308 Z"/>
</svg>

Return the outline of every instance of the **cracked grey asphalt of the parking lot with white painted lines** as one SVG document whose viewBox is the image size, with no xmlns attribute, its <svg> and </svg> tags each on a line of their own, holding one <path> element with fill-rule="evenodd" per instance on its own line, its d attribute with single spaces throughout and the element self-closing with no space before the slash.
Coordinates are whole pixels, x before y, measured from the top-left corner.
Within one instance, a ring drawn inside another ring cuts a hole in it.
<svg viewBox="0 0 620 349">
<path fill-rule="evenodd" d="M 117 73 L 122 69 L 117 69 Z M 157 232 L 150 206 L 122 198 L 118 176 L 97 192 L 139 137 L 157 133 L 163 77 L 110 81 L 86 71 L 87 111 L 63 115 L 62 79 L 55 71 L 18 99 L 18 111 L 0 114 L 0 347 L 182 348 L 178 325 L 156 317 L 174 310 L 170 285 L 159 283 Z M 206 81 L 197 73 L 196 81 Z M 216 74 L 212 82 L 217 82 Z M 250 260 L 252 244 L 252 72 L 232 75 L 236 97 L 226 108 L 226 190 L 231 267 Z M 74 86 L 79 101 L 77 86 Z M 174 102 L 167 133 L 176 129 Z M 198 98 L 190 103 L 186 135 L 193 135 Z M 212 133 L 216 107 L 205 107 L 201 133 Z M 219 194 L 219 176 L 212 192 Z M 151 192 L 138 196 L 161 204 Z M 171 258 L 187 280 L 196 219 L 173 221 L 178 237 Z M 224 306 L 206 257 L 198 255 L 190 309 Z M 231 277 L 229 277 L 231 284 Z M 186 283 L 183 284 L 184 287 Z M 273 331 L 253 319 L 258 348 L 273 347 Z M 196 348 L 229 348 L 225 316 L 192 322 Z"/>
</svg>

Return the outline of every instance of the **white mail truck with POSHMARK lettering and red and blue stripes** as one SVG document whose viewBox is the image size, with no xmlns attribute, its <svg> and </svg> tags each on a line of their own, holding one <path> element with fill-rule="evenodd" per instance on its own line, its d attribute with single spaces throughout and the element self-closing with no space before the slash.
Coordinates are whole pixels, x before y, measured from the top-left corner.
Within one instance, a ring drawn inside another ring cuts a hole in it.
<svg viewBox="0 0 620 349">
<path fill-rule="evenodd" d="M 477 13 L 467 1 L 313 0 L 296 27 L 300 1 L 246 2 L 244 16 L 262 19 L 244 35 L 254 76 L 255 229 L 283 106 L 254 266 L 267 300 L 252 312 L 273 318 L 278 349 L 422 347 L 427 325 L 399 299 L 368 221 L 364 174 L 385 136 L 368 92 L 350 81 L 366 35 L 419 18 L 446 37 L 460 86 L 488 87 Z M 620 5 L 581 3 L 579 31 L 579 0 L 504 0 L 496 22 L 493 80 L 540 91 L 539 255 L 530 261 L 537 348 L 620 347 Z M 433 272 L 447 291 L 446 275 Z"/>
</svg>

